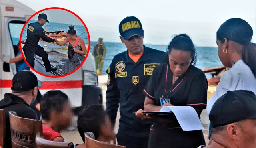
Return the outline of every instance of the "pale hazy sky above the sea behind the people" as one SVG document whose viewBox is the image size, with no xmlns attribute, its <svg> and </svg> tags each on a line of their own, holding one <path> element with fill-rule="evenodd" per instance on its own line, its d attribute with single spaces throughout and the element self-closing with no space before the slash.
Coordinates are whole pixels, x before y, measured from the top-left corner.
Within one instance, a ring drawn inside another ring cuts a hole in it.
<svg viewBox="0 0 256 148">
<path fill-rule="evenodd" d="M 120 42 L 118 25 L 136 16 L 144 29 L 144 43 L 168 44 L 175 34 L 186 33 L 197 46 L 216 47 L 216 31 L 230 18 L 246 20 L 256 42 L 256 0 L 18 0 L 39 11 L 62 7 L 76 13 L 86 24 L 91 41 Z M 68 17 L 51 14 L 60 22 Z M 50 16 L 49 16 L 50 20 Z M 53 19 L 54 20 L 54 19 Z"/>
</svg>

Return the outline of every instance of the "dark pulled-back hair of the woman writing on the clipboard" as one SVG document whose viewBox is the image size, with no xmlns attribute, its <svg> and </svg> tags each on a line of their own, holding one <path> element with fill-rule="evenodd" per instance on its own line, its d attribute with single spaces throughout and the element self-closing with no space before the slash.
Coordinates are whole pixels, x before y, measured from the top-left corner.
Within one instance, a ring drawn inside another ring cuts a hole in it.
<svg viewBox="0 0 256 148">
<path fill-rule="evenodd" d="M 190 51 L 191 52 L 191 63 L 192 65 L 196 65 L 196 49 L 193 41 L 186 34 L 176 35 L 172 41 L 169 43 L 168 48 L 166 49 L 167 57 L 166 62 L 169 63 L 169 54 L 172 49 L 182 50 L 182 51 Z"/>
</svg>

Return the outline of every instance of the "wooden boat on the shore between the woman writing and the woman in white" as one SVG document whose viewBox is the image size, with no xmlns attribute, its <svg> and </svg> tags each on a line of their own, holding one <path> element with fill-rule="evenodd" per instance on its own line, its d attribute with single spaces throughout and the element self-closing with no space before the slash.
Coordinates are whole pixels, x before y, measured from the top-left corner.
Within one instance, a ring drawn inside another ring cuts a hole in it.
<svg viewBox="0 0 256 148">
<path fill-rule="evenodd" d="M 205 74 L 212 75 L 212 78 L 207 79 L 208 85 L 218 85 L 218 83 L 220 82 L 220 77 L 227 70 L 228 68 L 224 66 L 202 69 L 202 71 L 204 71 Z"/>
</svg>

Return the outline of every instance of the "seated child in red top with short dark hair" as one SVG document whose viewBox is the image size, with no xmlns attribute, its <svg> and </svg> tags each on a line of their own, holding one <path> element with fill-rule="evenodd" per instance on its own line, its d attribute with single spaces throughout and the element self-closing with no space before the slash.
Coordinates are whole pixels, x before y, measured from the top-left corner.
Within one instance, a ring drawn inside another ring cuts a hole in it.
<svg viewBox="0 0 256 148">
<path fill-rule="evenodd" d="M 42 96 L 40 109 L 43 122 L 43 138 L 64 142 L 60 131 L 70 126 L 72 117 L 68 96 L 62 91 L 48 91 Z"/>
</svg>

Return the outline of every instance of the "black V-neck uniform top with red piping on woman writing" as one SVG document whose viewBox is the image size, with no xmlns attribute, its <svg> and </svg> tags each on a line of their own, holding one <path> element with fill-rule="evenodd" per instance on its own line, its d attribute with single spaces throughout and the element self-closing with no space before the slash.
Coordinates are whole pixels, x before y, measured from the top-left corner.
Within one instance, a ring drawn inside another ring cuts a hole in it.
<svg viewBox="0 0 256 148">
<path fill-rule="evenodd" d="M 154 101 L 155 105 L 163 105 L 164 97 L 174 106 L 189 105 L 206 109 L 208 81 L 204 72 L 190 65 L 186 73 L 172 85 L 172 71 L 168 64 L 158 65 L 144 88 L 144 94 Z M 167 91 L 169 91 L 167 93 Z M 163 96 L 164 95 L 164 96 Z"/>
</svg>

